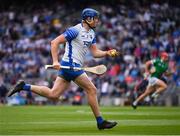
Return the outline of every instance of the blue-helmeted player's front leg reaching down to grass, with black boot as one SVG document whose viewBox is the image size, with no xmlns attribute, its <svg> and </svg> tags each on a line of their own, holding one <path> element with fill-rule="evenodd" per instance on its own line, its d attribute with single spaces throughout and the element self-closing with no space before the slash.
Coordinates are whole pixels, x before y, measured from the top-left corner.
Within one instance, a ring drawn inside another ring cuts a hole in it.
<svg viewBox="0 0 180 136">
<path fill-rule="evenodd" d="M 101 117 L 99 104 L 97 101 L 97 89 L 94 84 L 89 80 L 88 76 L 83 73 L 75 79 L 75 83 L 86 91 L 88 103 L 91 106 L 94 116 L 96 117 L 98 128 L 108 129 L 114 127 L 117 124 L 116 122 L 105 121 Z"/>
</svg>

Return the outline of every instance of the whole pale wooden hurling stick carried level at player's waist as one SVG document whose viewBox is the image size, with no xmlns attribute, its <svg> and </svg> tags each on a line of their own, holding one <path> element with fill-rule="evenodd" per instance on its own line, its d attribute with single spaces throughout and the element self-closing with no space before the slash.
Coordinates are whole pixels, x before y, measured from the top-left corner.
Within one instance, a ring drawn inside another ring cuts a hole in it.
<svg viewBox="0 0 180 136">
<path fill-rule="evenodd" d="M 53 65 L 45 65 L 45 69 L 54 69 Z M 72 69 L 72 70 L 84 70 L 87 72 L 91 72 L 97 75 L 104 74 L 107 71 L 107 67 L 105 65 L 98 65 L 94 67 L 70 67 L 70 66 L 60 66 L 61 69 Z"/>
</svg>

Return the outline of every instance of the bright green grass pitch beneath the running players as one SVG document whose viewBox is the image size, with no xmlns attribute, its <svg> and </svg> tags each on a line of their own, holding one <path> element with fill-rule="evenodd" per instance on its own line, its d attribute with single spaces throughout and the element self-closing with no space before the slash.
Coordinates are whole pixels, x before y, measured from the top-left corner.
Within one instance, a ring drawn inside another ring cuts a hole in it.
<svg viewBox="0 0 180 136">
<path fill-rule="evenodd" d="M 180 135 L 180 107 L 101 107 L 118 126 L 99 131 L 88 106 L 0 106 L 0 135 Z"/>
</svg>

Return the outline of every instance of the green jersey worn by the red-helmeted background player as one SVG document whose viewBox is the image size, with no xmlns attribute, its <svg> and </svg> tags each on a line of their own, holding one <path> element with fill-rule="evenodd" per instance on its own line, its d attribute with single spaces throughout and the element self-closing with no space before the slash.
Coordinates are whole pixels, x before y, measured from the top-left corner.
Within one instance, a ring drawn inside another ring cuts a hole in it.
<svg viewBox="0 0 180 136">
<path fill-rule="evenodd" d="M 155 67 L 155 72 L 151 74 L 151 77 L 160 78 L 164 72 L 168 69 L 168 63 L 163 62 L 161 59 L 154 59 L 151 61 Z"/>
</svg>

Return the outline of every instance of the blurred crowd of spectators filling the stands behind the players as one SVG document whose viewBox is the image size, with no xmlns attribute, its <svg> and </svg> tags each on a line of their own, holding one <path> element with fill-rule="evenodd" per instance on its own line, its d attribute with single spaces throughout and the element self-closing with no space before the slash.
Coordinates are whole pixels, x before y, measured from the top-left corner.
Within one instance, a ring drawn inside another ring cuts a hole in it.
<svg viewBox="0 0 180 136">
<path fill-rule="evenodd" d="M 142 1 L 115 2 L 114 4 L 78 4 L 53 1 L 25 2 L 23 6 L 10 5 L 0 11 L 0 100 L 1 103 L 22 104 L 47 102 L 31 93 L 20 93 L 6 98 L 6 93 L 20 79 L 33 84 L 52 87 L 56 71 L 45 70 L 51 64 L 50 41 L 64 30 L 81 21 L 84 7 L 100 11 L 101 21 L 96 28 L 97 46 L 103 50 L 116 48 L 123 55 L 117 58 L 93 59 L 87 54 L 86 66 L 105 64 L 105 75 L 88 74 L 98 88 L 99 99 L 125 98 L 134 95 L 134 86 L 143 79 L 145 62 L 157 58 L 161 51 L 170 55 L 170 87 L 180 87 L 180 8 L 169 3 L 142 3 Z M 50 6 L 49 6 L 50 4 Z M 78 10 L 77 10 L 78 9 Z M 59 58 L 64 53 L 60 46 Z M 172 89 L 169 89 L 172 90 Z M 62 96 L 63 102 L 81 104 L 85 94 L 72 84 Z M 13 100 L 12 100 L 13 99 Z M 15 99 L 15 100 L 14 100 Z M 48 103 L 51 103 L 48 101 Z M 102 102 L 103 103 L 103 102 Z"/>
</svg>

